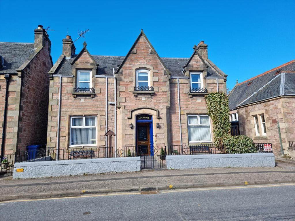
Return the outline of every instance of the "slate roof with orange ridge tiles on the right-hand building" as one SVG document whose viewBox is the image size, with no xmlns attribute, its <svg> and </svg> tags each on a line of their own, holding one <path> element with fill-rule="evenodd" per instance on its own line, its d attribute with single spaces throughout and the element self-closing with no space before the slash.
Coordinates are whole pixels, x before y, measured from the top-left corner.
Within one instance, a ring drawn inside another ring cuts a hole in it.
<svg viewBox="0 0 295 221">
<path fill-rule="evenodd" d="M 282 95 L 295 95 L 295 60 L 237 84 L 229 95 L 230 110 Z"/>
</svg>

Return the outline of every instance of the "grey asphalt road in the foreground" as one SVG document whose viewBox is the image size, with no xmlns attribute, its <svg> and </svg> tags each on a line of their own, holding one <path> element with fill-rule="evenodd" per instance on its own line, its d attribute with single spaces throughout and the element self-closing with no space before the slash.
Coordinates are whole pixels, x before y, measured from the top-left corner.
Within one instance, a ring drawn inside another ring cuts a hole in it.
<svg viewBox="0 0 295 221">
<path fill-rule="evenodd" d="M 295 220 L 295 184 L 2 202 L 0 220 Z"/>
</svg>

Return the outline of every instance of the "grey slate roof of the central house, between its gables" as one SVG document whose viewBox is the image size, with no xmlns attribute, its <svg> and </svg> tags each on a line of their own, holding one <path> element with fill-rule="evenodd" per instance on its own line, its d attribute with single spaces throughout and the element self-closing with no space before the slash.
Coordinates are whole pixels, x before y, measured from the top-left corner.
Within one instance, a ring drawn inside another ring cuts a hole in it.
<svg viewBox="0 0 295 221">
<path fill-rule="evenodd" d="M 60 63 L 59 67 L 55 71 L 55 74 L 58 75 L 68 75 L 72 73 L 71 62 L 77 57 L 74 55 L 71 59 L 64 58 Z M 124 56 L 103 56 L 103 55 L 92 55 L 95 62 L 99 64 L 97 75 L 113 75 L 113 67 L 117 71 L 118 67 L 121 65 L 124 60 Z M 172 77 L 181 77 L 185 76 L 182 72 L 183 66 L 189 60 L 189 58 L 175 58 L 175 57 L 161 57 L 163 63 L 166 65 L 168 70 L 171 72 Z M 208 65 L 208 64 L 207 64 Z M 209 77 L 220 77 L 221 74 L 218 74 L 213 67 L 208 67 L 207 76 Z"/>
</svg>

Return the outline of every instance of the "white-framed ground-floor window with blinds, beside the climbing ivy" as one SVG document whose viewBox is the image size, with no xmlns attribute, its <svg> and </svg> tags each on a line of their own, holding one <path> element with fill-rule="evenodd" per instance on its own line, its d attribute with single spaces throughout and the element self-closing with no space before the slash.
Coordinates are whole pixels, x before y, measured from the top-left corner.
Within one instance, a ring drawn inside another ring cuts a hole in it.
<svg viewBox="0 0 295 221">
<path fill-rule="evenodd" d="M 212 142 L 208 115 L 188 116 L 189 142 Z"/>
</svg>

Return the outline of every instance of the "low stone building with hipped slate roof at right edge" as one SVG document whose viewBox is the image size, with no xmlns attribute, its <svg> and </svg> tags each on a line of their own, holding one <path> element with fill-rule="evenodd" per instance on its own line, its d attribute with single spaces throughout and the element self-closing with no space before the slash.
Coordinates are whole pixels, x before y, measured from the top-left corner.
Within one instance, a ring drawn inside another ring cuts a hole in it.
<svg viewBox="0 0 295 221">
<path fill-rule="evenodd" d="M 229 107 L 232 133 L 272 143 L 276 156 L 295 158 L 295 60 L 237 83 Z"/>
</svg>

